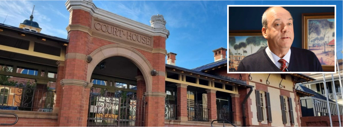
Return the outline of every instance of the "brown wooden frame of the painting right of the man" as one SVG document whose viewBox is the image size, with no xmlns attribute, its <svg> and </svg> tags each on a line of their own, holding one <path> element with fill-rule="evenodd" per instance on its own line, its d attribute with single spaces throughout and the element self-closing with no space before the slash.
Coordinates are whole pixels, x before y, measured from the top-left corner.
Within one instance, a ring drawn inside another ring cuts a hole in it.
<svg viewBox="0 0 343 127">
<path fill-rule="evenodd" d="M 309 42 L 308 42 L 308 19 L 331 19 L 335 18 L 335 13 L 303 13 L 301 14 L 301 33 L 302 33 L 302 48 L 309 50 Z M 335 26 L 334 26 L 335 28 Z M 336 49 L 336 47 L 335 47 Z M 335 54 L 336 55 L 336 54 Z M 334 56 L 335 56 L 334 55 Z M 336 57 L 334 58 L 336 59 Z M 327 72 L 334 72 L 335 71 L 336 62 L 334 61 L 334 65 L 322 65 L 323 71 Z"/>
</svg>

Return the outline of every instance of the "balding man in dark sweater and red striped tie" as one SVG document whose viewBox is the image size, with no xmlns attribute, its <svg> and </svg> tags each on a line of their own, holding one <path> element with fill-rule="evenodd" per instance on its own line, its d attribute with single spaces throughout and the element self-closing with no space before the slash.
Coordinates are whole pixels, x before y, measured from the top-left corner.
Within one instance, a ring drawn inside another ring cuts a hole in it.
<svg viewBox="0 0 343 127">
<path fill-rule="evenodd" d="M 270 7 L 265 10 L 262 26 L 268 46 L 245 57 L 238 65 L 238 72 L 323 72 L 313 52 L 291 47 L 293 18 L 286 9 Z"/>
</svg>

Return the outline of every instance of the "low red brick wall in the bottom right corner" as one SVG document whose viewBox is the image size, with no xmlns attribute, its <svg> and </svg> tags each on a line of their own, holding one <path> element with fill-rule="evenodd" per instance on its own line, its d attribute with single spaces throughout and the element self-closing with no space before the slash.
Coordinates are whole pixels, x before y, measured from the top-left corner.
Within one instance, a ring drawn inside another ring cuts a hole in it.
<svg viewBox="0 0 343 127">
<path fill-rule="evenodd" d="M 341 124 L 343 123 L 342 115 L 341 117 Z M 339 127 L 338 116 L 332 115 L 332 126 Z M 329 116 L 309 116 L 309 117 L 301 117 L 301 127 L 330 127 L 330 118 Z"/>
</svg>

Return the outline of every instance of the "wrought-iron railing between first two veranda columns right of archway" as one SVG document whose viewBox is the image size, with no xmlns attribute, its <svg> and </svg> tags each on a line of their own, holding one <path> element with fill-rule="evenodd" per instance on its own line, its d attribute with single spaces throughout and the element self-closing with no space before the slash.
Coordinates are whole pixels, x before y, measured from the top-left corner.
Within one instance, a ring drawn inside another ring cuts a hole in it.
<svg viewBox="0 0 343 127">
<path fill-rule="evenodd" d="M 209 109 L 202 108 L 200 104 L 194 104 L 194 107 L 187 107 L 188 121 L 209 122 Z"/>
</svg>

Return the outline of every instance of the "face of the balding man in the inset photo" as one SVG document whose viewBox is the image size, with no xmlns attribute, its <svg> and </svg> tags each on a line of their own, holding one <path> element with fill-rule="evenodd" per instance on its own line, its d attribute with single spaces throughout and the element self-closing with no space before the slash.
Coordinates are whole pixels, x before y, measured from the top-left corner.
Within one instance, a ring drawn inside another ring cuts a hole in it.
<svg viewBox="0 0 343 127">
<path fill-rule="evenodd" d="M 294 40 L 293 19 L 291 14 L 281 8 L 274 7 L 267 13 L 268 29 L 266 38 L 272 48 L 291 48 Z"/>
</svg>

